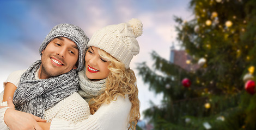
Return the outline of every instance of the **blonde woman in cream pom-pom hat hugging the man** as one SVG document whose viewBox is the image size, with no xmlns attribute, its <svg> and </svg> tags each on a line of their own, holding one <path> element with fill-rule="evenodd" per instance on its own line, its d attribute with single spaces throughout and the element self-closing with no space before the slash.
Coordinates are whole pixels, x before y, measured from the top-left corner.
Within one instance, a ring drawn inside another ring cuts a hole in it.
<svg viewBox="0 0 256 130">
<path fill-rule="evenodd" d="M 77 124 L 54 118 L 51 123 L 40 123 L 41 127 L 135 129 L 140 116 L 138 88 L 129 64 L 139 53 L 136 38 L 141 35 L 142 23 L 138 19 L 96 31 L 88 43 L 86 66 L 78 73 L 78 93 L 89 101 L 92 115 Z"/>
</svg>

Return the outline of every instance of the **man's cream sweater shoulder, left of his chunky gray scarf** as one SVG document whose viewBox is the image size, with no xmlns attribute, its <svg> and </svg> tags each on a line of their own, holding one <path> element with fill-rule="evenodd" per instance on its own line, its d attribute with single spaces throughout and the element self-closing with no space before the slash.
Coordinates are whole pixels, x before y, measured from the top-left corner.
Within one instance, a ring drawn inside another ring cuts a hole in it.
<svg viewBox="0 0 256 130">
<path fill-rule="evenodd" d="M 3 82 L 3 87 L 5 87 L 6 83 L 10 82 L 13 83 L 16 87 L 19 86 L 21 75 L 26 72 L 26 69 L 23 70 L 17 70 L 13 73 L 11 73 L 8 77 L 7 80 Z"/>
</svg>

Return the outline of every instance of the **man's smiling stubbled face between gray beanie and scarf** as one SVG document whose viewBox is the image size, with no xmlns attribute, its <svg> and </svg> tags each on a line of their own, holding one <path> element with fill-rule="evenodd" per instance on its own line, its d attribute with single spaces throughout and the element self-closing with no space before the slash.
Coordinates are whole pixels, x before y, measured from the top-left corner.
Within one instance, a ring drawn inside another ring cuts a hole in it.
<svg viewBox="0 0 256 130">
<path fill-rule="evenodd" d="M 47 79 L 76 69 L 78 56 L 75 42 L 65 37 L 54 38 L 42 51 L 39 78 Z"/>
</svg>

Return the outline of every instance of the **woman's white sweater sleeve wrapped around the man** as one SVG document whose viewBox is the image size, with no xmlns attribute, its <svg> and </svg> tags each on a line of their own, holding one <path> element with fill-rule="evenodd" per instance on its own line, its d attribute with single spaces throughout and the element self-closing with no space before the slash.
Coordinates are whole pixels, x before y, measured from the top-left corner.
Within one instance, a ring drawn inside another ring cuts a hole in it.
<svg viewBox="0 0 256 130">
<path fill-rule="evenodd" d="M 103 104 L 94 115 L 77 124 L 54 118 L 51 122 L 51 130 L 54 129 L 127 129 L 131 102 L 127 96 L 118 96 L 117 100 L 109 104 Z M 114 123 L 114 124 L 113 124 Z"/>
</svg>

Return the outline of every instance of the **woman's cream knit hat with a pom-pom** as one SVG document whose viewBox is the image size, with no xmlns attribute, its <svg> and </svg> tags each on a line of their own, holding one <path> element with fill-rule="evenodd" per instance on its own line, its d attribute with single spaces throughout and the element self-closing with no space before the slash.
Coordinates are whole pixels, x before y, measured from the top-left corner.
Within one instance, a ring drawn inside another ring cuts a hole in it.
<svg viewBox="0 0 256 130">
<path fill-rule="evenodd" d="M 129 64 L 134 55 L 139 54 L 139 44 L 137 37 L 142 35 L 142 22 L 132 18 L 128 23 L 108 25 L 97 30 L 87 47 L 97 47 L 105 50 L 118 61 L 129 68 Z"/>
</svg>

